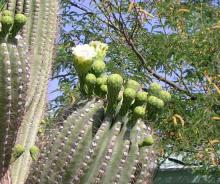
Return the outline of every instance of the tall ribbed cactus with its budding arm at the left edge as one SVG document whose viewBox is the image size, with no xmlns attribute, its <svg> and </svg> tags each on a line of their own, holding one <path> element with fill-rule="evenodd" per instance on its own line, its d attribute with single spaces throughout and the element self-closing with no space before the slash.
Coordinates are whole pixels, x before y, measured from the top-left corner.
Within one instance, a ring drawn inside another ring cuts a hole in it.
<svg viewBox="0 0 220 184">
<path fill-rule="evenodd" d="M 56 0 L 8 0 L 0 32 L 0 183 L 24 183 L 46 102 Z"/>
</svg>

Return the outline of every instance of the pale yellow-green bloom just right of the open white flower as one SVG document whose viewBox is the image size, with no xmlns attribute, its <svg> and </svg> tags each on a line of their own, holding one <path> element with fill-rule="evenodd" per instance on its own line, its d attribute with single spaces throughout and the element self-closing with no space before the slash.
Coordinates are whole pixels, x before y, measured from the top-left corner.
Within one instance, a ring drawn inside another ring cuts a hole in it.
<svg viewBox="0 0 220 184">
<path fill-rule="evenodd" d="M 91 41 L 89 45 L 95 49 L 97 54 L 96 58 L 103 61 L 108 50 L 108 45 L 100 41 Z"/>
</svg>

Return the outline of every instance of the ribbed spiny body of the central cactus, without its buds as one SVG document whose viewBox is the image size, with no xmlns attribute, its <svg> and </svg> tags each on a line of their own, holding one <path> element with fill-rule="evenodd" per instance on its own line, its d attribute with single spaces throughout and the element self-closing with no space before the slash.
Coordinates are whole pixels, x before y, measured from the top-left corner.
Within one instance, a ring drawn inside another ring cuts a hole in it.
<svg viewBox="0 0 220 184">
<path fill-rule="evenodd" d="M 139 148 L 138 143 L 149 130 L 141 121 L 130 129 L 128 118 L 103 119 L 103 104 L 102 100 L 88 101 L 55 128 L 42 145 L 27 184 L 121 184 L 146 178 L 149 150 Z"/>
</svg>

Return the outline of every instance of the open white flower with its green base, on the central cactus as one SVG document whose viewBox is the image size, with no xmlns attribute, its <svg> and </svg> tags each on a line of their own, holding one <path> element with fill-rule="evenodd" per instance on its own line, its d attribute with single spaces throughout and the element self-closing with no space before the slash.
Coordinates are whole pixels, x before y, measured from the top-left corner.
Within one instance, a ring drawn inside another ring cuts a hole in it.
<svg viewBox="0 0 220 184">
<path fill-rule="evenodd" d="M 77 45 L 72 48 L 73 63 L 79 76 L 84 76 L 90 70 L 93 59 L 96 57 L 95 49 L 88 44 Z"/>
</svg>

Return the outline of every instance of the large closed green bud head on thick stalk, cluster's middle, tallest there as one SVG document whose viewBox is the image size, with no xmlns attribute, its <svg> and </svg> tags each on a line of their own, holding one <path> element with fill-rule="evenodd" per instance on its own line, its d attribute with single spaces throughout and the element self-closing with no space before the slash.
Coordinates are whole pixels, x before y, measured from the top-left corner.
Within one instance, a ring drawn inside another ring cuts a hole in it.
<svg viewBox="0 0 220 184">
<path fill-rule="evenodd" d="M 120 92 L 123 84 L 123 79 L 119 74 L 111 74 L 107 79 L 108 90 L 113 94 L 117 94 Z"/>
</svg>

